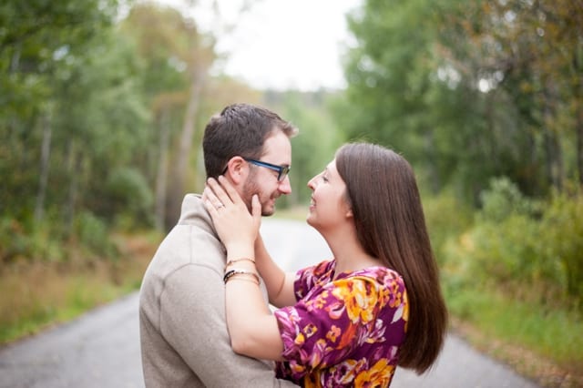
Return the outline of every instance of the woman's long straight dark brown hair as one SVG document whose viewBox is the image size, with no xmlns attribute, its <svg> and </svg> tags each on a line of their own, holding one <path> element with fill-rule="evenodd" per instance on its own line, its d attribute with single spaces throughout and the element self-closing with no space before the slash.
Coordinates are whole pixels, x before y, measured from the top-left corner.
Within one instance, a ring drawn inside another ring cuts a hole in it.
<svg viewBox="0 0 583 388">
<path fill-rule="evenodd" d="M 340 148 L 336 168 L 364 250 L 404 279 L 409 322 L 399 365 L 424 373 L 443 347 L 447 310 L 413 168 L 394 151 L 369 143 Z"/>
</svg>

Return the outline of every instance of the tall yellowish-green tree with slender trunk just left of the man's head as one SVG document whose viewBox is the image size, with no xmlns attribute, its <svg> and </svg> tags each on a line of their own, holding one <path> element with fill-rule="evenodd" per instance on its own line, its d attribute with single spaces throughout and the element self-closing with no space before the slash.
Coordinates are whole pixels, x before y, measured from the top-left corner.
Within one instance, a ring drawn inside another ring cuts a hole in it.
<svg viewBox="0 0 583 388">
<path fill-rule="evenodd" d="M 168 229 L 176 222 L 187 191 L 201 99 L 216 57 L 214 39 L 178 10 L 153 4 L 134 6 L 122 30 L 135 42 L 144 64 L 143 87 L 156 126 L 152 147 L 159 145 L 151 150 L 158 156 L 157 225 Z"/>
</svg>

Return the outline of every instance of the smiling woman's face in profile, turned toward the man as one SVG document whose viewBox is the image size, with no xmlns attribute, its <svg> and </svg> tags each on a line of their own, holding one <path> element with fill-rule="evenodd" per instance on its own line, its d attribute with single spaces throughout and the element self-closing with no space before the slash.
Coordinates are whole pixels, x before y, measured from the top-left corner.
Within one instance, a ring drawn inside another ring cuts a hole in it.
<svg viewBox="0 0 583 388">
<path fill-rule="evenodd" d="M 313 228 L 331 230 L 352 218 L 346 201 L 346 184 L 338 174 L 335 159 L 310 179 L 308 187 L 312 189 L 312 200 L 307 222 Z"/>
</svg>

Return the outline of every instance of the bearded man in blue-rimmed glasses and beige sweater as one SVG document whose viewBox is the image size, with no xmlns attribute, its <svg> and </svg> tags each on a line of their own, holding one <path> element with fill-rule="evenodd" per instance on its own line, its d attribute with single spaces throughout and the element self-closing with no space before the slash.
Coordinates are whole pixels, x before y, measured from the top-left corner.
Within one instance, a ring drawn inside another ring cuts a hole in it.
<svg viewBox="0 0 583 388">
<path fill-rule="evenodd" d="M 262 214 L 290 194 L 290 138 L 297 133 L 275 113 L 246 104 L 211 117 L 202 148 L 208 177 L 224 175 L 251 209 Z M 232 352 L 225 321 L 226 250 L 199 195 L 188 194 L 178 224 L 144 275 L 140 342 L 147 387 L 280 387 L 271 363 Z M 261 286 L 263 286 L 261 284 Z M 263 289 L 264 291 L 264 289 Z"/>
</svg>

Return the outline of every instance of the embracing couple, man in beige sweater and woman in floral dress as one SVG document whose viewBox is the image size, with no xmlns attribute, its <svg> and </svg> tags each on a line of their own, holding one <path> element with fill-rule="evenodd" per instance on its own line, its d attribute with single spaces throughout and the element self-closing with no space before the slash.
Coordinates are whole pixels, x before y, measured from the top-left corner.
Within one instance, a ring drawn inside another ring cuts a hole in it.
<svg viewBox="0 0 583 388">
<path fill-rule="evenodd" d="M 261 216 L 292 191 L 297 131 L 248 104 L 210 118 L 206 188 L 185 197 L 140 290 L 147 387 L 386 387 L 397 365 L 435 362 L 445 302 L 413 169 L 393 150 L 345 144 L 308 182 L 307 222 L 332 258 L 295 273 L 271 260 Z"/>
</svg>

